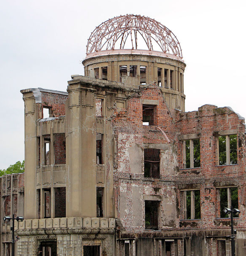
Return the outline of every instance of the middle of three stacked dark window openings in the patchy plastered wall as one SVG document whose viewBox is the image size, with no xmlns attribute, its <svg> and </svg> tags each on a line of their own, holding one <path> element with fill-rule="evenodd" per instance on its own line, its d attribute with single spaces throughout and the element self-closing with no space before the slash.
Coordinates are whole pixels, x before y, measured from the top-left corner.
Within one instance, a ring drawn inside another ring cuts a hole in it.
<svg viewBox="0 0 246 256">
<path fill-rule="evenodd" d="M 144 177 L 160 177 L 160 150 L 144 149 Z"/>
</svg>

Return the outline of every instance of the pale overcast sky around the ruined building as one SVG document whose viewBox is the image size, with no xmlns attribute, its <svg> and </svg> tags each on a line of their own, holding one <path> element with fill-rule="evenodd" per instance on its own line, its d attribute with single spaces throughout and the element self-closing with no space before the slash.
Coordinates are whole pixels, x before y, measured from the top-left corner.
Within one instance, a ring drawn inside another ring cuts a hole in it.
<svg viewBox="0 0 246 256">
<path fill-rule="evenodd" d="M 11 0 L 0 8 L 0 169 L 24 159 L 21 89 L 65 91 L 96 26 L 123 14 L 154 18 L 178 38 L 187 64 L 186 111 L 230 106 L 246 117 L 245 0 Z"/>
</svg>

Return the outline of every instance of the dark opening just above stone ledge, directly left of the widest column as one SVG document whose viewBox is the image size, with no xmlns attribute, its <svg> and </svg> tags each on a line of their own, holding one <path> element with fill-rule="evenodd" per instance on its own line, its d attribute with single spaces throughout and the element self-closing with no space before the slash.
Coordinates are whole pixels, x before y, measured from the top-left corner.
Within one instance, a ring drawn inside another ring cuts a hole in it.
<svg viewBox="0 0 246 256">
<path fill-rule="evenodd" d="M 54 188 L 55 191 L 55 218 L 66 217 L 66 188 Z"/>
</svg>

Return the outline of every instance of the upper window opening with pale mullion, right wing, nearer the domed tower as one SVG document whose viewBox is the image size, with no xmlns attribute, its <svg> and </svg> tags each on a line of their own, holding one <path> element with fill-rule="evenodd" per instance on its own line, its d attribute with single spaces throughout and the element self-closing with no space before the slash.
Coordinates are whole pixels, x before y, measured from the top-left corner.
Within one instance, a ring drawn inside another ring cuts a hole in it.
<svg viewBox="0 0 246 256">
<path fill-rule="evenodd" d="M 184 141 L 184 168 L 201 166 L 200 139 Z"/>
</svg>

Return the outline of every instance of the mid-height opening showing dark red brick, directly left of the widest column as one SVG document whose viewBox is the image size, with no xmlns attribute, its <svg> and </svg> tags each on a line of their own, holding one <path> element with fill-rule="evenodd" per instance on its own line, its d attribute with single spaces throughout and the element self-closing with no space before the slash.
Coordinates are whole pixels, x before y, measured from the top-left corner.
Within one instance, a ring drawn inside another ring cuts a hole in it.
<svg viewBox="0 0 246 256">
<path fill-rule="evenodd" d="M 54 158 L 55 158 L 55 164 L 65 164 L 66 163 L 65 133 L 54 134 Z"/>
</svg>

